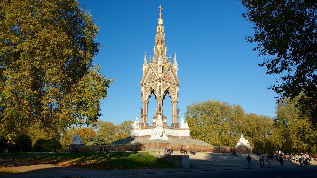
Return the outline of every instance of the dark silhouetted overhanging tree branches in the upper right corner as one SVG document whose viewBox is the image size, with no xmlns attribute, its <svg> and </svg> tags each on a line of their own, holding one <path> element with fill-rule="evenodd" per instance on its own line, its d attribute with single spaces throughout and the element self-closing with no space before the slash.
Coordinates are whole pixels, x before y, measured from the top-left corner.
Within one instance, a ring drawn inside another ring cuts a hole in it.
<svg viewBox="0 0 317 178">
<path fill-rule="evenodd" d="M 257 43 L 258 56 L 271 56 L 259 65 L 281 75 L 268 89 L 279 99 L 303 93 L 298 106 L 317 123 L 317 1 L 240 1 L 243 17 L 255 24 L 248 41 Z"/>
</svg>

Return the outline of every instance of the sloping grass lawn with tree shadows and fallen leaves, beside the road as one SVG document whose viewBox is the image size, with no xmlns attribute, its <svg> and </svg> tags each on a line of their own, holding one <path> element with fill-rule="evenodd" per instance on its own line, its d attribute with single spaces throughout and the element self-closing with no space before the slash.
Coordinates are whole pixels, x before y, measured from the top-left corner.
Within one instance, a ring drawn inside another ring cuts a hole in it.
<svg viewBox="0 0 317 178">
<path fill-rule="evenodd" d="M 142 152 L 143 157 L 138 156 L 139 153 L 141 152 L 74 152 L 16 159 L 90 169 L 179 168 L 174 164 L 150 155 L 149 152 Z"/>
</svg>

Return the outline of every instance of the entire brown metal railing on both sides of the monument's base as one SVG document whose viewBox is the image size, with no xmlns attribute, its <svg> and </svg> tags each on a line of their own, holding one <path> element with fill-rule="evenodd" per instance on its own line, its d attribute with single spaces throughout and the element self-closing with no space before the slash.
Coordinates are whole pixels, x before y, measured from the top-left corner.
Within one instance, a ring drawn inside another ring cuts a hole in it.
<svg viewBox="0 0 317 178">
<path fill-rule="evenodd" d="M 173 151 L 180 151 L 182 144 L 171 143 Z M 187 145 L 184 145 L 186 148 Z M 210 145 L 188 145 L 189 150 L 195 149 L 197 152 L 211 152 L 211 153 L 231 153 L 232 147 L 227 146 L 210 146 Z M 78 146 L 79 151 L 99 151 L 106 149 L 109 151 L 142 151 L 146 150 L 146 143 L 134 143 L 134 144 L 108 144 L 108 145 L 88 145 Z M 245 148 L 235 148 L 236 153 L 245 153 Z"/>
</svg>

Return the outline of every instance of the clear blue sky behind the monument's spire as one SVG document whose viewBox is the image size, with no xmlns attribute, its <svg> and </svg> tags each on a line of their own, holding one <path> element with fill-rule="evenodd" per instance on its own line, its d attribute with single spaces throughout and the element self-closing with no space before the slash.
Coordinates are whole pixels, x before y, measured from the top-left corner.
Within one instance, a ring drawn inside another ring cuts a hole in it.
<svg viewBox="0 0 317 178">
<path fill-rule="evenodd" d="M 166 56 L 176 52 L 180 81 L 179 120 L 186 106 L 207 99 L 242 105 L 247 112 L 275 116 L 275 92 L 266 86 L 275 77 L 258 66 L 257 57 L 245 36 L 253 35 L 253 24 L 241 16 L 244 8 L 236 0 L 213 1 L 94 1 L 79 0 L 100 26 L 97 41 L 105 47 L 94 60 L 102 73 L 114 78 L 108 99 L 102 100 L 100 118 L 119 124 L 140 120 L 140 81 L 144 52 L 153 57 L 159 5 L 162 5 Z M 171 100 L 164 100 L 164 114 L 171 124 Z M 148 104 L 152 124 L 156 100 Z"/>
</svg>

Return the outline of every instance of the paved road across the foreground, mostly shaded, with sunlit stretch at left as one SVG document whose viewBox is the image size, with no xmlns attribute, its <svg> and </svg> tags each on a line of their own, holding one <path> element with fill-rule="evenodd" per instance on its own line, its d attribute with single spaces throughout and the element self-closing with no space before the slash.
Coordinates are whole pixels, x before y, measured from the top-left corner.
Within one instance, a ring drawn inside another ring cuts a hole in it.
<svg viewBox="0 0 317 178">
<path fill-rule="evenodd" d="M 252 168 L 247 167 L 226 167 L 206 169 L 129 169 L 129 170 L 92 170 L 75 167 L 65 167 L 53 164 L 34 162 L 22 162 L 0 158 L 0 167 L 7 167 L 23 172 L 22 174 L 0 175 L 0 178 L 70 178 L 70 177 L 144 177 L 144 178 L 195 178 L 195 177 L 230 177 L 230 178 L 316 178 L 317 166 L 289 166 Z"/>
</svg>

